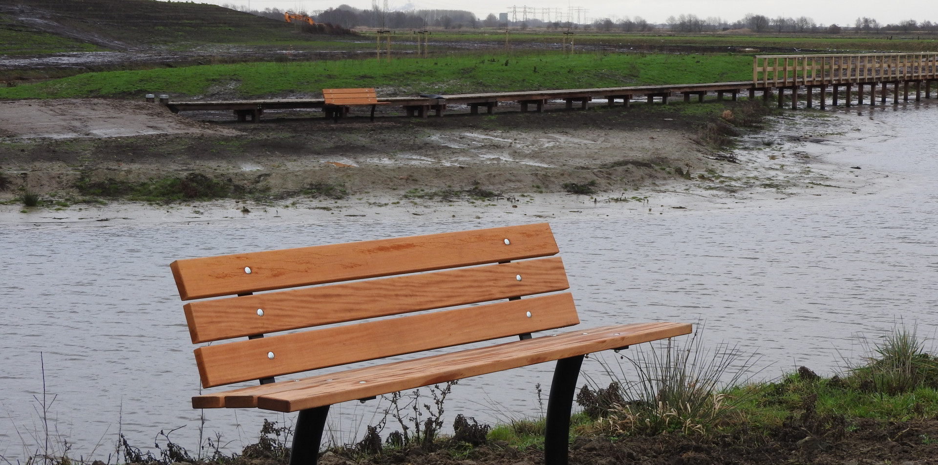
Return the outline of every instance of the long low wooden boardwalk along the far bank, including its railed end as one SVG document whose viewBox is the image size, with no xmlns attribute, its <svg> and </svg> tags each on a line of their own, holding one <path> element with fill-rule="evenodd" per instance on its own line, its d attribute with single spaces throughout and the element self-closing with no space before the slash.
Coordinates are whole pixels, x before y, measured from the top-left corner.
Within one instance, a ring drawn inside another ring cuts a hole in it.
<svg viewBox="0 0 938 465">
<path fill-rule="evenodd" d="M 648 103 L 660 101 L 668 104 L 668 99 L 678 94 L 684 101 L 691 98 L 703 102 L 707 94 L 716 94 L 718 99 L 729 94 L 734 100 L 740 93 L 756 98 L 756 92 L 768 101 L 778 94 L 778 105 L 785 104 L 786 91 L 792 108 L 797 108 L 799 90 L 806 89 L 806 106 L 812 107 L 814 95 L 820 93 L 820 107 L 826 108 L 826 97 L 830 89 L 833 105 L 838 105 L 841 92 L 845 106 L 864 102 L 864 88 L 870 87 L 870 105 L 875 104 L 877 86 L 881 87 L 880 99 L 885 104 L 892 86 L 892 95 L 896 103 L 910 99 L 910 86 L 914 87 L 915 100 L 931 98 L 931 83 L 938 82 L 936 68 L 938 53 L 865 53 L 865 54 L 819 54 L 819 55 L 757 55 L 753 57 L 752 81 L 744 82 L 709 82 L 674 85 L 638 85 L 628 87 L 602 87 L 594 89 L 563 89 L 545 91 L 492 92 L 484 94 L 454 94 L 437 96 L 439 98 L 378 98 L 380 102 L 400 106 L 408 116 L 427 117 L 431 112 L 443 116 L 447 106 L 465 105 L 470 113 L 477 114 L 479 108 L 486 113 L 494 113 L 500 102 L 517 102 L 522 112 L 543 112 L 544 106 L 551 100 L 564 100 L 566 107 L 578 106 L 582 109 L 594 98 L 605 99 L 606 105 L 613 106 L 616 101 L 629 105 L 633 98 L 643 97 Z M 856 91 L 854 91 L 854 86 Z M 170 101 L 162 96 L 160 102 L 173 113 L 192 111 L 232 111 L 239 121 L 257 122 L 267 110 L 321 109 L 325 106 L 323 98 L 290 98 L 275 100 L 229 100 L 229 101 Z"/>
</svg>

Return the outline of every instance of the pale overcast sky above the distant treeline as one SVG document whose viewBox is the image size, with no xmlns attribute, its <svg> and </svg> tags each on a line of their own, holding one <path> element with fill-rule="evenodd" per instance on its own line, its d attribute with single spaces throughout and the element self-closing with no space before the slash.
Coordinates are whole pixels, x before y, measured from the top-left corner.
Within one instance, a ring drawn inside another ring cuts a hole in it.
<svg viewBox="0 0 938 465">
<path fill-rule="evenodd" d="M 198 0 L 197 0 L 198 1 Z M 201 0 L 216 5 L 234 4 L 247 6 L 252 9 L 280 8 L 290 10 L 307 10 L 335 8 L 341 4 L 356 8 L 371 8 L 371 0 Z M 378 0 L 383 6 L 384 0 Z M 938 22 L 938 1 L 936 0 L 893 0 L 883 2 L 879 0 L 854 0 L 851 2 L 832 0 L 529 0 L 500 1 L 500 0 L 388 0 L 390 9 L 433 8 L 433 9 L 468 9 L 476 13 L 479 18 L 485 18 L 489 13 L 510 11 L 512 6 L 521 8 L 527 6 L 537 10 L 536 17 L 540 18 L 543 8 L 557 8 L 562 14 L 567 8 L 586 8 L 586 15 L 592 19 L 605 17 L 634 17 L 641 16 L 649 23 L 664 23 L 671 16 L 695 14 L 701 18 L 720 17 L 733 22 L 746 15 L 746 13 L 762 14 L 770 18 L 777 16 L 799 17 L 807 16 L 817 23 L 840 25 L 853 25 L 857 16 L 868 16 L 880 23 L 899 23 L 913 19 L 919 23 L 930 20 Z"/>
</svg>

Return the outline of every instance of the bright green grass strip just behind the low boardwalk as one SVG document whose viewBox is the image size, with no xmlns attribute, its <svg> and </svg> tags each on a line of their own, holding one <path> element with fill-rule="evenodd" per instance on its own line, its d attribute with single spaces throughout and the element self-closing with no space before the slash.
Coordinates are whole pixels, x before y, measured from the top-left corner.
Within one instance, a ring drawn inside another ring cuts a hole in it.
<svg viewBox="0 0 938 465">
<path fill-rule="evenodd" d="M 744 55 L 532 52 L 107 71 L 0 88 L 0 98 L 180 98 L 219 88 L 230 89 L 226 97 L 262 98 L 343 87 L 375 87 L 379 96 L 394 97 L 748 79 L 751 58 Z"/>
</svg>

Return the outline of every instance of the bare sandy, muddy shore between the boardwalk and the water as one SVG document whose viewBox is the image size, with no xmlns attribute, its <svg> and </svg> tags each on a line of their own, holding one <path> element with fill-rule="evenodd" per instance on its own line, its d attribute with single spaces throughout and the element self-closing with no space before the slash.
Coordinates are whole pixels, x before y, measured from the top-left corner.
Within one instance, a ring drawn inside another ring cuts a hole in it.
<svg viewBox="0 0 938 465">
<path fill-rule="evenodd" d="M 744 136 L 732 154 L 694 142 L 700 117 L 666 109 L 382 117 L 373 124 L 353 117 L 338 125 L 310 112 L 267 113 L 256 125 L 236 124 L 230 114 L 186 114 L 143 102 L 0 102 L 0 126 L 12 132 L 0 143 L 8 180 L 0 221 L 673 215 L 849 198 L 900 183 L 888 173 L 825 163 L 837 134 L 863 130 L 863 121 L 817 113 L 776 119 L 772 130 Z M 80 179 L 184 173 L 265 194 L 100 205 L 82 203 L 74 187 Z M 571 183 L 595 183 L 597 192 L 569 194 Z M 348 195 L 303 195 L 310 186 Z M 50 202 L 23 210 L 16 198 L 24 189 Z"/>
</svg>

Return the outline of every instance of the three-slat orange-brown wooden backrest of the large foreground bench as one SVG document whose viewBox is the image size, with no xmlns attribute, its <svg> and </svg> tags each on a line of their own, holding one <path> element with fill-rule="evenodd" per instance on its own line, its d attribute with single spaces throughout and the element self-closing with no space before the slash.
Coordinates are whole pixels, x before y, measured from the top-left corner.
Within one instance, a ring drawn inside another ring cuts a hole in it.
<svg viewBox="0 0 938 465">
<path fill-rule="evenodd" d="M 557 252 L 550 226 L 540 223 L 171 267 L 183 300 L 236 295 L 184 306 L 193 343 L 249 337 L 195 350 L 211 387 L 580 323 L 570 293 L 554 293 L 569 287 L 563 263 L 551 257 Z M 538 293 L 550 294 L 521 298 Z M 322 325 L 331 326 L 264 337 Z"/>
</svg>

